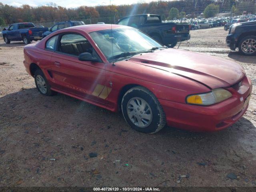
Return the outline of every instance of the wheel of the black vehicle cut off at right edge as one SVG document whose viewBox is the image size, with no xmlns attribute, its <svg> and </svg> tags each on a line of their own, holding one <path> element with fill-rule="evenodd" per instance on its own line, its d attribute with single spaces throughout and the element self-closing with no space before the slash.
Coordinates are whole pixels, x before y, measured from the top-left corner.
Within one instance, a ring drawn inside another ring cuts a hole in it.
<svg viewBox="0 0 256 192">
<path fill-rule="evenodd" d="M 246 36 L 238 44 L 240 53 L 248 56 L 256 54 L 256 36 Z"/>
</svg>

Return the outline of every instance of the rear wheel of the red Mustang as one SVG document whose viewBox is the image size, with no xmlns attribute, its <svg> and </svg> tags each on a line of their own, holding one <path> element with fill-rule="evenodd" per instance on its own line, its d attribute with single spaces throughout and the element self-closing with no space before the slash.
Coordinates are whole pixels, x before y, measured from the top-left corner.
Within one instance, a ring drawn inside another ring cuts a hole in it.
<svg viewBox="0 0 256 192">
<path fill-rule="evenodd" d="M 41 94 L 52 96 L 56 93 L 51 90 L 50 84 L 48 83 L 48 81 L 44 76 L 44 73 L 40 69 L 36 70 L 34 78 L 35 78 L 36 88 Z"/>
</svg>

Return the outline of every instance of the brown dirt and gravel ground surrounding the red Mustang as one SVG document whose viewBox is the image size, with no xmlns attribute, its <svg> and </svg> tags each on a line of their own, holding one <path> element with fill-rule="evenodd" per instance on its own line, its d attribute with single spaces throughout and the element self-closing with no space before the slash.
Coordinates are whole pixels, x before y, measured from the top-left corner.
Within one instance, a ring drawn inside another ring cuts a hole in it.
<svg viewBox="0 0 256 192">
<path fill-rule="evenodd" d="M 192 31 L 180 48 L 234 60 L 255 78 L 256 57 L 231 52 L 226 34 Z M 0 186 L 256 186 L 255 86 L 248 111 L 226 130 L 142 134 L 121 113 L 42 96 L 24 70 L 23 46 L 0 42 Z"/>
</svg>

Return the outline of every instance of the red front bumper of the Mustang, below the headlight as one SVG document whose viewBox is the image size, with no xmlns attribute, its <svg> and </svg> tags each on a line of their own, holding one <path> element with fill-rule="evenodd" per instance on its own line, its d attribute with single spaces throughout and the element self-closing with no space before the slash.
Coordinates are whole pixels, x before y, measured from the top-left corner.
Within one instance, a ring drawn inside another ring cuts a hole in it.
<svg viewBox="0 0 256 192">
<path fill-rule="evenodd" d="M 246 112 L 252 92 L 249 78 L 243 79 L 242 86 L 247 90 L 239 94 L 234 88 L 227 88 L 232 97 L 210 106 L 197 106 L 159 99 L 168 126 L 195 132 L 222 130 L 238 121 Z M 242 87 L 241 86 L 241 87 Z"/>
</svg>

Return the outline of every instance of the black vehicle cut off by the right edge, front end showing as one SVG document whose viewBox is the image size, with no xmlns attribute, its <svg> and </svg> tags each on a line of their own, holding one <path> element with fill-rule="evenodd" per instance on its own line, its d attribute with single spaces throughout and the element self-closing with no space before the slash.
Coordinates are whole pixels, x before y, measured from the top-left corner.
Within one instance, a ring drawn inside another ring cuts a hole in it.
<svg viewBox="0 0 256 192">
<path fill-rule="evenodd" d="M 244 22 L 230 26 L 226 44 L 231 50 L 239 51 L 244 55 L 256 54 L 256 21 Z"/>
</svg>

